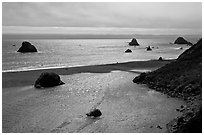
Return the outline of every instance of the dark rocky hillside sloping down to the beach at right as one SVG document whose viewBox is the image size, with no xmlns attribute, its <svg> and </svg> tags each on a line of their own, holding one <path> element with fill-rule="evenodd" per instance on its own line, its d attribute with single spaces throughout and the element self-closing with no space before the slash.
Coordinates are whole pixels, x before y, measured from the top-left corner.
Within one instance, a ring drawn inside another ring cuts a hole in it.
<svg viewBox="0 0 204 135">
<path fill-rule="evenodd" d="M 167 124 L 169 132 L 202 132 L 202 39 L 175 61 L 142 73 L 133 82 L 186 101 L 184 114 Z"/>
</svg>

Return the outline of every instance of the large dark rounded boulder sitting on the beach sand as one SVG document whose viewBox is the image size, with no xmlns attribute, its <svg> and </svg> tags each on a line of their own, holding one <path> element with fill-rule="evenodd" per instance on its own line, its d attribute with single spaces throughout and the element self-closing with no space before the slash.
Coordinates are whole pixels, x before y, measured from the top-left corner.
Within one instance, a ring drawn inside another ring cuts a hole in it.
<svg viewBox="0 0 204 135">
<path fill-rule="evenodd" d="M 40 77 L 35 81 L 35 88 L 54 87 L 65 84 L 60 80 L 60 76 L 53 72 L 41 73 Z"/>
</svg>

